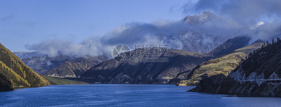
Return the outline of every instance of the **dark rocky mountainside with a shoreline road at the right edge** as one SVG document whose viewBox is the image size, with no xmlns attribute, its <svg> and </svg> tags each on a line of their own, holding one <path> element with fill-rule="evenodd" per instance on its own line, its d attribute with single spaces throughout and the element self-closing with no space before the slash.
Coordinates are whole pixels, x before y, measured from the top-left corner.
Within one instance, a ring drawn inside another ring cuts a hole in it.
<svg viewBox="0 0 281 107">
<path fill-rule="evenodd" d="M 253 51 L 253 54 L 250 53 L 250 56 L 227 77 L 215 75 L 202 79 L 195 88 L 189 91 L 281 97 L 280 81 L 238 81 L 281 77 L 281 41 L 266 45 Z"/>
</svg>

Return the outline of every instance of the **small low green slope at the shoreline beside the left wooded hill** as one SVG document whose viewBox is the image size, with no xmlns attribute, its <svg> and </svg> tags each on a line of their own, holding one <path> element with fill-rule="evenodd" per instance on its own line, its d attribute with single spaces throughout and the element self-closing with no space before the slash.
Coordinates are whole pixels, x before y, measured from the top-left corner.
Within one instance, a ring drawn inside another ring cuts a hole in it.
<svg viewBox="0 0 281 107">
<path fill-rule="evenodd" d="M 69 80 L 69 79 L 64 79 L 60 77 L 51 77 L 51 76 L 46 76 L 46 75 L 41 75 L 45 79 L 47 79 L 51 85 L 54 84 L 88 84 L 86 82 L 82 81 L 77 81 L 77 80 Z"/>
</svg>

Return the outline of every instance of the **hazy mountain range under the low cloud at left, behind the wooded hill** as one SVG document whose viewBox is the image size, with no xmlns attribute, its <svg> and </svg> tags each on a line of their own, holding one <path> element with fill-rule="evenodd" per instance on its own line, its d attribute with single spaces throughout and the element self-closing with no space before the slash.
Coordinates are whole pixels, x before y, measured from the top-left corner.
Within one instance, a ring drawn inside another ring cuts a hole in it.
<svg viewBox="0 0 281 107">
<path fill-rule="evenodd" d="M 98 55 L 95 57 L 91 56 L 83 56 L 83 57 L 77 57 L 77 56 L 70 56 L 70 55 L 63 55 L 59 54 L 58 56 L 49 57 L 47 54 L 41 57 L 33 56 L 28 58 L 22 58 L 21 60 L 29 66 L 31 69 L 33 69 L 35 72 L 39 74 L 47 74 L 47 75 L 53 75 L 57 77 L 66 77 L 66 75 L 61 75 L 60 72 L 63 72 L 65 70 L 79 70 L 78 72 L 81 73 L 96 63 L 99 63 L 103 60 L 106 60 L 108 57 L 104 54 Z M 74 63 L 75 64 L 74 64 Z M 67 66 L 72 66 L 72 68 L 68 68 Z M 75 67 L 77 66 L 77 67 Z M 57 69 L 60 68 L 60 69 Z M 67 68 L 67 69 L 66 69 Z M 51 71 L 49 71 L 51 70 Z M 52 73 L 51 73 L 52 72 Z M 78 74 L 78 73 L 76 73 Z M 70 74 L 72 75 L 72 74 Z M 80 76 L 81 74 L 78 74 L 77 76 Z M 71 77 L 76 77 L 76 75 L 72 75 Z"/>
</svg>

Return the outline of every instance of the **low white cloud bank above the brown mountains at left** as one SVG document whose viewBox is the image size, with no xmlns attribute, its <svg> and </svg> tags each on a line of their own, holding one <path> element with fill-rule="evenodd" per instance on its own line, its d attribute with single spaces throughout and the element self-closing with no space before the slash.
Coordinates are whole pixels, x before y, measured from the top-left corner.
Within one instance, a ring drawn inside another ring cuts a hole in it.
<svg viewBox="0 0 281 107">
<path fill-rule="evenodd" d="M 59 53 L 71 56 L 91 55 L 96 56 L 103 53 L 108 53 L 107 49 L 111 49 L 108 45 L 102 45 L 96 38 L 85 38 L 80 43 L 72 41 L 51 39 L 31 45 L 26 44 L 25 47 L 29 50 L 36 50 L 40 53 L 48 54 L 49 56 L 57 56 Z M 112 50 L 112 49 L 111 49 Z"/>
</svg>

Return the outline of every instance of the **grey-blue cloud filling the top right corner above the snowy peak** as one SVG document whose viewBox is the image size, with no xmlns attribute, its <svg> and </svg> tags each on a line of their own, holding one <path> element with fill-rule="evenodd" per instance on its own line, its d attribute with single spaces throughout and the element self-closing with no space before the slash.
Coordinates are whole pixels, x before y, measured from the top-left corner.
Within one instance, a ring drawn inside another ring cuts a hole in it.
<svg viewBox="0 0 281 107">
<path fill-rule="evenodd" d="M 281 0 L 198 0 L 182 6 L 184 13 L 210 10 L 240 24 L 255 24 L 260 19 L 276 19 L 281 15 Z"/>
</svg>

